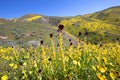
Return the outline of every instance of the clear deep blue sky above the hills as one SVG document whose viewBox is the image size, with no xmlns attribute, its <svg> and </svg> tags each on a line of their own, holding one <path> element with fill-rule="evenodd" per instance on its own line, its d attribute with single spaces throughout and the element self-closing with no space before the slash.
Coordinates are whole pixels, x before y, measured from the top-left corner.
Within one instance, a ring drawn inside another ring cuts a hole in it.
<svg viewBox="0 0 120 80">
<path fill-rule="evenodd" d="M 0 0 L 0 18 L 18 18 L 26 14 L 76 16 L 112 6 L 120 6 L 120 0 Z"/>
</svg>

